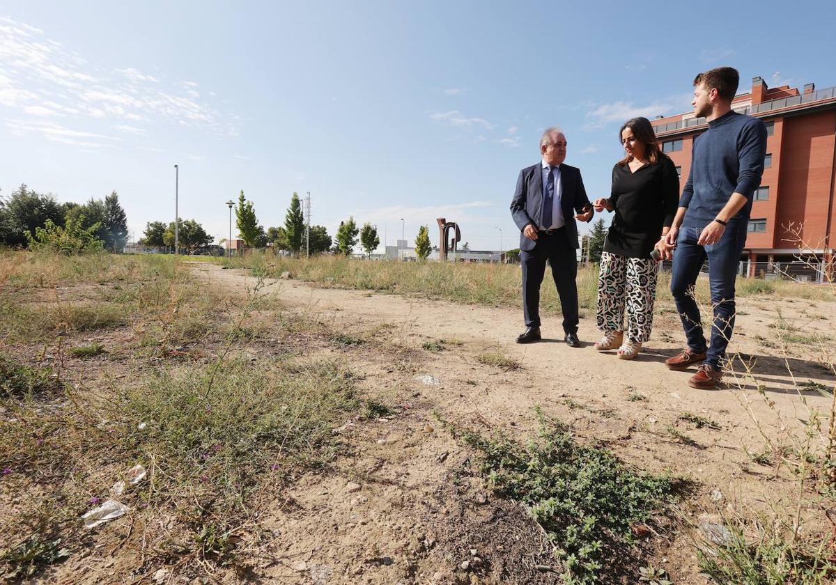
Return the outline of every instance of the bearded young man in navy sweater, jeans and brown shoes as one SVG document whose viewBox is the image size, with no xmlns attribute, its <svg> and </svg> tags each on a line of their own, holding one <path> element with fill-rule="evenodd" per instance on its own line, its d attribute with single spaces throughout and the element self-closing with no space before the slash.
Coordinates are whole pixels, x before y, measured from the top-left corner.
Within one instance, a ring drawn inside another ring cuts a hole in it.
<svg viewBox="0 0 836 585">
<path fill-rule="evenodd" d="M 740 76 L 720 67 L 694 79 L 694 114 L 708 130 L 694 140 L 691 173 L 679 209 L 661 242 L 663 257 L 673 250 L 670 292 L 682 319 L 688 347 L 665 361 L 670 369 L 701 364 L 688 385 L 712 389 L 721 384 L 726 346 L 735 318 L 735 278 L 746 243 L 752 195 L 761 184 L 767 129 L 761 120 L 732 111 Z M 708 260 L 714 320 L 706 344 L 694 298 L 696 277 Z"/>
</svg>

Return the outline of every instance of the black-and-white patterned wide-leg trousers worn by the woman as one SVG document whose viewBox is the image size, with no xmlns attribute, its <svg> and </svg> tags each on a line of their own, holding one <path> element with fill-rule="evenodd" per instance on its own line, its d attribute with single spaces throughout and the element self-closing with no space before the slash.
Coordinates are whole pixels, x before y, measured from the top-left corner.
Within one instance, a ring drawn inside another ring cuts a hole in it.
<svg viewBox="0 0 836 585">
<path fill-rule="evenodd" d="M 652 258 L 628 258 L 603 252 L 595 315 L 599 330 L 623 331 L 626 307 L 627 338 L 634 343 L 647 341 L 653 326 L 658 272 L 658 262 Z"/>
</svg>

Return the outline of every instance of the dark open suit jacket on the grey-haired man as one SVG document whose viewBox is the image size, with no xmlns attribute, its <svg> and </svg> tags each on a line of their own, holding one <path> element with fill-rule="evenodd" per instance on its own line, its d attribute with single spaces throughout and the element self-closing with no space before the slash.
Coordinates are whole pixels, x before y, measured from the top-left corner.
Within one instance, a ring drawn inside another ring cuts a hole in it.
<svg viewBox="0 0 836 585">
<path fill-rule="evenodd" d="M 560 186 L 562 188 L 561 206 L 563 217 L 566 219 L 566 237 L 569 246 L 578 248 L 578 224 L 574 218 L 575 212 L 580 213 L 584 206 L 589 205 L 589 199 L 584 189 L 584 180 L 580 177 L 580 169 L 565 163 L 560 165 Z M 537 243 L 522 233 L 529 223 L 539 229 L 540 214 L 543 212 L 543 166 L 538 162 L 520 171 L 517 178 L 517 188 L 511 200 L 511 216 L 520 228 L 520 250 L 534 249 Z M 592 221 L 590 218 L 589 221 Z"/>
</svg>

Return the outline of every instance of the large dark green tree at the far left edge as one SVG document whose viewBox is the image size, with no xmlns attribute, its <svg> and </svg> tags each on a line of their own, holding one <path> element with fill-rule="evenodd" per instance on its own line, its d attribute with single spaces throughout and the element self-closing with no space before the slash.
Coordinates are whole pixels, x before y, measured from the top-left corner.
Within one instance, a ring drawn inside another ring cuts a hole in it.
<svg viewBox="0 0 836 585">
<path fill-rule="evenodd" d="M 64 226 L 63 209 L 51 195 L 42 195 L 25 184 L 12 191 L 8 201 L 0 200 L 0 242 L 9 246 L 26 246 L 27 233 L 35 233 L 36 227 L 46 226 L 51 220 L 54 226 Z"/>
</svg>

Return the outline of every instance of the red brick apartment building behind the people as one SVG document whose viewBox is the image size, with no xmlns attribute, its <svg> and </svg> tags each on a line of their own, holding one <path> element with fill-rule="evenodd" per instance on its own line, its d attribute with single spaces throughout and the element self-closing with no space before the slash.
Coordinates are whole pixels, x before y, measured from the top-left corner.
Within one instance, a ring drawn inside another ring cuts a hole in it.
<svg viewBox="0 0 836 585">
<path fill-rule="evenodd" d="M 803 91 L 782 85 L 767 88 L 752 79 L 752 91 L 737 95 L 732 108 L 767 125 L 767 156 L 761 188 L 755 193 L 749 234 L 743 250 L 748 276 L 769 273 L 773 263 L 798 260 L 821 265 L 833 275 L 833 227 L 836 225 L 836 88 Z M 691 170 L 691 145 L 707 128 L 692 112 L 652 121 L 662 150 L 674 161 L 684 187 Z M 801 226 L 803 246 L 788 226 Z M 790 240 L 790 241 L 788 241 Z M 799 247 L 803 249 L 799 251 Z M 796 264 L 798 266 L 798 264 Z M 808 275 L 820 281 L 822 275 Z"/>
</svg>

